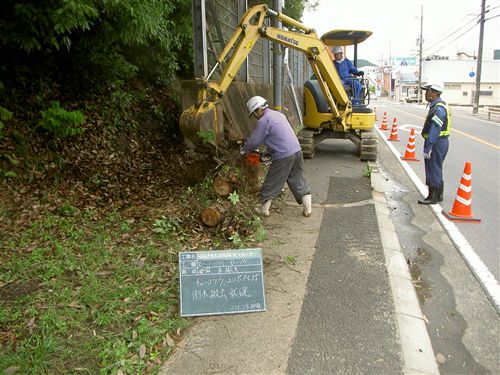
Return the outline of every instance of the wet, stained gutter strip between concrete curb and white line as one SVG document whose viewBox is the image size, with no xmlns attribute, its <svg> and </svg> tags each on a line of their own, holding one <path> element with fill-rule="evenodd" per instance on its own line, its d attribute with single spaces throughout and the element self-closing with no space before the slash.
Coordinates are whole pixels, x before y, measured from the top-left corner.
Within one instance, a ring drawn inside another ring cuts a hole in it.
<svg viewBox="0 0 500 375">
<path fill-rule="evenodd" d="M 377 164 L 439 372 L 499 374 L 499 315 L 431 207 L 417 203 L 420 194 L 398 159 L 381 139 Z"/>
</svg>

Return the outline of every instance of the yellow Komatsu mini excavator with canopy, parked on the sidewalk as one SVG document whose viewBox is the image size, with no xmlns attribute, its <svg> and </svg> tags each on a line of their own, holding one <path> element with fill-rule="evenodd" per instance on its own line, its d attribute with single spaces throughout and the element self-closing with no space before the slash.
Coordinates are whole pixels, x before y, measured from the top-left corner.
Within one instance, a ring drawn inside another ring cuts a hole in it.
<svg viewBox="0 0 500 375">
<path fill-rule="evenodd" d="M 291 30 L 266 26 L 267 17 L 276 17 Z M 203 80 L 197 102 L 181 115 L 180 129 L 184 139 L 189 145 L 201 148 L 207 145 L 216 148 L 224 144 L 221 98 L 255 42 L 266 38 L 304 53 L 314 73 L 304 85 L 304 127 L 297 134 L 304 157 L 314 157 L 321 141 L 342 138 L 357 145 L 361 160 L 376 160 L 375 114 L 367 107 L 366 100 L 362 100 L 361 105 L 352 105 L 349 89 L 342 84 L 329 51 L 332 45 L 353 44 L 357 47 L 357 43 L 370 35 L 371 32 L 337 30 L 318 38 L 314 29 L 273 11 L 265 4 L 248 9 L 211 73 Z M 220 79 L 210 81 L 219 65 L 224 68 Z M 363 99 L 368 96 L 369 100 L 367 85 L 363 86 Z"/>
</svg>

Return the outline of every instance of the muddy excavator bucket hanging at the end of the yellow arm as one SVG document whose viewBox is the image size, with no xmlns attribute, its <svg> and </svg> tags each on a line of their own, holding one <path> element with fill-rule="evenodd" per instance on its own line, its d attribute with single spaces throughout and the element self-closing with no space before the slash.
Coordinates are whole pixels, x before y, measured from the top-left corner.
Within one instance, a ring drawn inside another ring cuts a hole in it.
<svg viewBox="0 0 500 375">
<path fill-rule="evenodd" d="M 220 102 L 202 102 L 186 109 L 179 126 L 186 145 L 215 151 L 224 142 L 224 117 Z"/>
</svg>

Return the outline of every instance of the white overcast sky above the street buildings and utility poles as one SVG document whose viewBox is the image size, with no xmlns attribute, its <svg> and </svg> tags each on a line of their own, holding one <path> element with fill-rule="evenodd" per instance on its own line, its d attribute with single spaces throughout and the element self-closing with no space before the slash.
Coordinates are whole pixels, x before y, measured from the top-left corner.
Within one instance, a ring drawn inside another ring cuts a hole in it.
<svg viewBox="0 0 500 375">
<path fill-rule="evenodd" d="M 302 23 L 315 28 L 318 36 L 333 29 L 372 31 L 358 46 L 358 58 L 378 65 L 389 57 L 418 56 L 421 6 L 424 57 L 454 57 L 457 51 L 477 54 L 479 24 L 473 20 L 481 12 L 481 0 L 320 0 L 315 12 L 304 12 Z M 486 9 L 486 19 L 499 15 L 500 0 L 487 0 Z M 483 60 L 493 59 L 493 49 L 500 49 L 500 17 L 485 22 Z M 347 57 L 353 57 L 349 49 Z"/>
</svg>

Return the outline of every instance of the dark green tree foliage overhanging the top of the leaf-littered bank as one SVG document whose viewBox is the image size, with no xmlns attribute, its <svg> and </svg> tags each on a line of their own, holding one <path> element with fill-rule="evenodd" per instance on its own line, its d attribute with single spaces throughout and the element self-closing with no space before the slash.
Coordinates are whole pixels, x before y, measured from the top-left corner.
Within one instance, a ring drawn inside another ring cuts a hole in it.
<svg viewBox="0 0 500 375">
<path fill-rule="evenodd" d="M 39 79 L 67 93 L 136 77 L 168 84 L 179 69 L 192 71 L 191 2 L 7 1 L 0 54 L 9 90 Z"/>
</svg>

